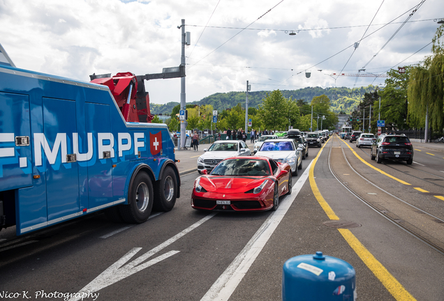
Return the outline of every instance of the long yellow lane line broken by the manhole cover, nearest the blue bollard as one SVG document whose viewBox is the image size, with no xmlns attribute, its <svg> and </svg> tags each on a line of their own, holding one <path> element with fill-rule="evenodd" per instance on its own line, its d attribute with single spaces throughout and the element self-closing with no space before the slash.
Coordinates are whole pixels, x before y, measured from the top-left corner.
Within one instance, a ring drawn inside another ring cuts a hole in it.
<svg viewBox="0 0 444 301">
<path fill-rule="evenodd" d="M 320 194 L 320 191 L 318 190 L 318 185 L 316 185 L 315 179 L 314 179 L 314 167 L 316 162 L 318 161 L 318 157 L 320 156 L 320 153 L 322 153 L 323 148 L 320 148 L 320 151 L 316 158 L 313 160 L 313 163 L 310 167 L 309 172 L 309 179 L 310 179 L 310 185 L 311 190 L 313 191 L 314 196 L 318 200 L 320 206 L 323 208 L 325 213 L 330 219 L 339 219 L 339 217 L 334 213 L 330 205 L 325 201 L 322 194 Z M 348 229 L 338 229 L 339 233 L 343 236 L 343 238 L 346 240 L 348 245 L 352 247 L 352 249 L 356 252 L 357 256 L 360 256 L 361 260 L 367 265 L 367 267 L 373 272 L 373 274 L 381 281 L 383 286 L 387 288 L 387 291 L 389 291 L 392 296 L 399 301 L 416 301 L 415 298 L 413 298 L 410 293 L 402 286 L 402 284 L 399 283 L 399 281 L 393 277 L 392 274 L 382 265 L 374 256 L 369 252 L 369 250 L 362 245 L 362 243 L 351 233 Z"/>
</svg>

